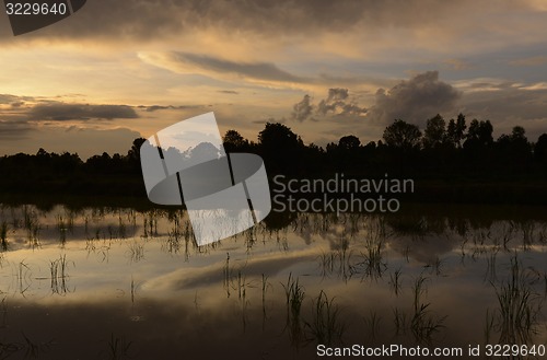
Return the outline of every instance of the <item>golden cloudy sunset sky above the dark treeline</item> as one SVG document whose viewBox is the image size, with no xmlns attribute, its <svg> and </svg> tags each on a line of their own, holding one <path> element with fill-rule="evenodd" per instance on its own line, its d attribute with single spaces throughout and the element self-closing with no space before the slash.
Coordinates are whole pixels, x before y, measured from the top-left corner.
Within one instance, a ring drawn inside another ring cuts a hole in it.
<svg viewBox="0 0 547 360">
<path fill-rule="evenodd" d="M 440 113 L 547 132 L 547 1 L 89 0 L 14 37 L 0 13 L 0 155 L 126 153 L 214 112 L 249 140 L 379 140 Z"/>
</svg>

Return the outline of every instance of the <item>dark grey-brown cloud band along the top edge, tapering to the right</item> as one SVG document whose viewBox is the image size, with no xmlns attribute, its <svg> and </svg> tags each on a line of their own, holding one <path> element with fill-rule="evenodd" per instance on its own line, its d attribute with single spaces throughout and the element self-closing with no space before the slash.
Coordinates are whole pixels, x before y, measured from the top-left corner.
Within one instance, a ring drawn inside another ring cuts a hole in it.
<svg viewBox="0 0 547 360">
<path fill-rule="evenodd" d="M 520 4 L 514 0 L 511 3 Z M 462 8 L 482 9 L 475 1 L 437 0 L 93 0 L 75 15 L 25 36 L 83 39 L 101 37 L 155 40 L 214 28 L 266 35 L 348 32 L 362 24 L 373 31 L 441 22 Z M 12 37 L 9 26 L 2 37 Z"/>
</svg>

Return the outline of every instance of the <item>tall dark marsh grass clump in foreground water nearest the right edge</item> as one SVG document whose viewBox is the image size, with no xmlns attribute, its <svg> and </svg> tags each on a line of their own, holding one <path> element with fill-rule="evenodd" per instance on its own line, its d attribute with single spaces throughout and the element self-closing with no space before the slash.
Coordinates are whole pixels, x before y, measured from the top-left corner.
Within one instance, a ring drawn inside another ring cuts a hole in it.
<svg viewBox="0 0 547 360">
<path fill-rule="evenodd" d="M 500 333 L 500 344 L 528 344 L 538 332 L 540 297 L 516 256 L 510 262 L 509 277 L 498 286 L 492 283 L 499 305 L 496 329 Z"/>
</svg>

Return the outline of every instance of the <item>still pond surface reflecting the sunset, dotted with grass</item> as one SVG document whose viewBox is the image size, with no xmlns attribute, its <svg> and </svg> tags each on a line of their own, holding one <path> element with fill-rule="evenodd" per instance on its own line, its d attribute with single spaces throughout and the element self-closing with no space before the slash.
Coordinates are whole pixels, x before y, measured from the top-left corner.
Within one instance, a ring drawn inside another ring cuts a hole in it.
<svg viewBox="0 0 547 360">
<path fill-rule="evenodd" d="M 0 359 L 546 345 L 547 221 L 493 212 L 287 214 L 197 247 L 183 211 L 3 206 Z"/>
</svg>

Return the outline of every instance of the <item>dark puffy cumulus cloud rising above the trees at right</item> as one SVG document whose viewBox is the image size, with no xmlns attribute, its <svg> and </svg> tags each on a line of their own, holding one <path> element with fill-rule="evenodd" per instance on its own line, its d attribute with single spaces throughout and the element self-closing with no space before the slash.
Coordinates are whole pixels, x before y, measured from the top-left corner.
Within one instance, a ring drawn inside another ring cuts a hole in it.
<svg viewBox="0 0 547 360">
<path fill-rule="evenodd" d="M 439 80 L 438 71 L 428 71 L 404 80 L 394 88 L 376 92 L 369 117 L 377 124 L 403 119 L 423 126 L 435 114 L 454 111 L 462 93 Z"/>
</svg>

